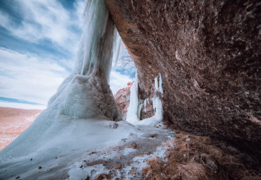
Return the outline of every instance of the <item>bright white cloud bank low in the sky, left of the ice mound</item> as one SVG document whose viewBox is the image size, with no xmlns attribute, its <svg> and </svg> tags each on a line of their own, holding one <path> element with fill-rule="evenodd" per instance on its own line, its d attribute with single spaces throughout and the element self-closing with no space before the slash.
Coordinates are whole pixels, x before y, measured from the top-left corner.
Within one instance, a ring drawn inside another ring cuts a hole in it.
<svg viewBox="0 0 261 180">
<path fill-rule="evenodd" d="M 0 48 L 0 96 L 47 104 L 69 72 L 55 59 Z"/>
</svg>

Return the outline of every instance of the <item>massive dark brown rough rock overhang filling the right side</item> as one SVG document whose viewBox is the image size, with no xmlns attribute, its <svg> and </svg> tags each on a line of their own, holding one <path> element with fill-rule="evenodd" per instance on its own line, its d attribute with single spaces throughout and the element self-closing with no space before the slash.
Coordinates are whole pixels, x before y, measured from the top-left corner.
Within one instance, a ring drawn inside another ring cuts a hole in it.
<svg viewBox="0 0 261 180">
<path fill-rule="evenodd" d="M 260 2 L 106 2 L 138 68 L 141 99 L 161 73 L 165 120 L 261 157 Z"/>
</svg>

